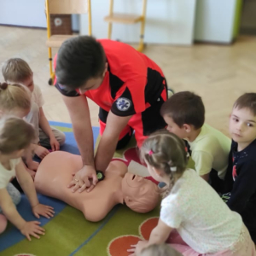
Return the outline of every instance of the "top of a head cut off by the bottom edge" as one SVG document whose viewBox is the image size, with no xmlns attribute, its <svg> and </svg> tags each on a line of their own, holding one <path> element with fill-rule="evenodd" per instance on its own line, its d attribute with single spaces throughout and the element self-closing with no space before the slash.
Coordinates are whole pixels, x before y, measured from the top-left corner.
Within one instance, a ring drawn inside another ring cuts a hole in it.
<svg viewBox="0 0 256 256">
<path fill-rule="evenodd" d="M 139 256 L 182 256 L 168 244 L 152 244 L 143 249 Z"/>
</svg>

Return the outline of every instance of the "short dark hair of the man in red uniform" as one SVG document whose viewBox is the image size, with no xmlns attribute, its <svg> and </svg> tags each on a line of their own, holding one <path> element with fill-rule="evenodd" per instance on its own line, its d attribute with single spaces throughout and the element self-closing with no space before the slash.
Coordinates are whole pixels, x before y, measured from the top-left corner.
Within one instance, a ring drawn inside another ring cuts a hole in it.
<svg viewBox="0 0 256 256">
<path fill-rule="evenodd" d="M 88 79 L 102 76 L 105 63 L 104 49 L 95 38 L 80 36 L 67 39 L 57 55 L 57 82 L 68 89 L 78 89 Z"/>
</svg>

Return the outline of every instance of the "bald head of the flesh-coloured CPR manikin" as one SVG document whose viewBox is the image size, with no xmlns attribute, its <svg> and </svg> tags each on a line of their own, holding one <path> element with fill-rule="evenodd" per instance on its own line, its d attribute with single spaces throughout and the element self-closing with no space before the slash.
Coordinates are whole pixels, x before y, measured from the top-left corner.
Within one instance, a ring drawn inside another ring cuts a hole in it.
<svg viewBox="0 0 256 256">
<path fill-rule="evenodd" d="M 160 191 L 155 183 L 130 172 L 122 180 L 122 192 L 126 206 L 134 212 L 150 212 L 160 201 Z"/>
</svg>

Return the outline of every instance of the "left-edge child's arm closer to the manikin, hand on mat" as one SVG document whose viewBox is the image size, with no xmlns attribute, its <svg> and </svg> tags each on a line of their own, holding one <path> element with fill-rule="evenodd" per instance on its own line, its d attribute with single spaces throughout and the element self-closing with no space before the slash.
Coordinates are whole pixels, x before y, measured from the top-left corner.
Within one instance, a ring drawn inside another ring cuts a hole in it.
<svg viewBox="0 0 256 256">
<path fill-rule="evenodd" d="M 53 207 L 44 206 L 39 203 L 32 177 L 28 174 L 28 172 L 26 172 L 21 161 L 16 166 L 16 177 L 20 183 L 21 188 L 26 194 L 28 201 L 30 201 L 33 214 L 37 218 L 40 218 L 39 215 L 42 215 L 45 218 L 53 217 Z"/>
</svg>

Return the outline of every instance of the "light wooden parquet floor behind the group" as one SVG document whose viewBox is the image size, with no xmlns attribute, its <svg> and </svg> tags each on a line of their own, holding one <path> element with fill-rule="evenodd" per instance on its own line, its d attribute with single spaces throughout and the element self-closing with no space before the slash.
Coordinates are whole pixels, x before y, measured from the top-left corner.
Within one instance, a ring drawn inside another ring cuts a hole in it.
<svg viewBox="0 0 256 256">
<path fill-rule="evenodd" d="M 43 91 L 47 118 L 70 122 L 60 93 L 48 85 L 46 31 L 0 26 L 0 34 L 0 62 L 11 57 L 26 60 L 34 72 L 35 83 Z M 225 134 L 228 134 L 233 102 L 244 92 L 256 91 L 256 38 L 241 37 L 233 45 L 147 45 L 144 53 L 163 69 L 169 87 L 176 91 L 192 90 L 202 96 L 207 123 Z M 95 126 L 97 113 L 98 107 L 90 102 L 91 121 Z"/>
</svg>

